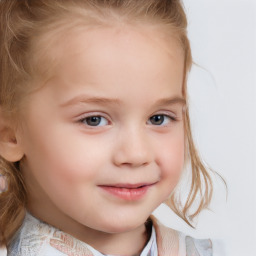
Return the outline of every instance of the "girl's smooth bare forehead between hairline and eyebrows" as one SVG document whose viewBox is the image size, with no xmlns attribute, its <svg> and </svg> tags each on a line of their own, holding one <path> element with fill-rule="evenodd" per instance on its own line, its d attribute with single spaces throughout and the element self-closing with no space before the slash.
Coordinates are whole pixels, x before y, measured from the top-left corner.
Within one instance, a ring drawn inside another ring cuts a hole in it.
<svg viewBox="0 0 256 256">
<path fill-rule="evenodd" d="M 55 38 L 44 58 L 54 79 L 51 86 L 59 87 L 58 95 L 64 91 L 68 95 L 85 84 L 93 85 L 87 90 L 115 94 L 131 86 L 147 92 L 150 85 L 160 83 L 175 90 L 176 96 L 182 95 L 184 53 L 177 39 L 160 28 L 76 28 Z"/>
</svg>

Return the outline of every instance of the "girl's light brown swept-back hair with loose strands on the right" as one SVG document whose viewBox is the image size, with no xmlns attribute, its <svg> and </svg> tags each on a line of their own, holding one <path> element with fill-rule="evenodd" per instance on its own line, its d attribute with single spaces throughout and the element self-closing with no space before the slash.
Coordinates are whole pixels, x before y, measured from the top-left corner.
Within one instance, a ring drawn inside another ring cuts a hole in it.
<svg viewBox="0 0 256 256">
<path fill-rule="evenodd" d="M 179 0 L 0 0 L 0 110 L 4 115 L 12 118 L 17 115 L 21 99 L 31 90 L 31 80 L 50 76 L 51 68 L 43 68 L 49 65 L 42 65 L 49 59 L 44 59 L 44 54 L 39 54 L 38 45 L 35 46 L 40 41 L 44 50 L 47 45 L 50 50 L 52 44 L 43 41 L 45 35 L 54 32 L 53 38 L 57 38 L 56 31 L 67 31 L 79 24 L 104 25 L 114 20 L 160 25 L 171 31 L 185 53 L 183 94 L 187 99 L 187 74 L 192 57 L 186 15 Z M 212 181 L 196 151 L 188 109 L 184 118 L 186 158 L 192 169 L 190 192 L 183 205 L 176 193 L 172 193 L 166 203 L 190 224 L 192 218 L 209 205 Z M 19 163 L 10 163 L 0 157 L 0 174 L 8 180 L 8 190 L 0 194 L 1 245 L 8 244 L 21 225 L 27 199 Z M 190 214 L 198 194 L 199 204 Z"/>
</svg>

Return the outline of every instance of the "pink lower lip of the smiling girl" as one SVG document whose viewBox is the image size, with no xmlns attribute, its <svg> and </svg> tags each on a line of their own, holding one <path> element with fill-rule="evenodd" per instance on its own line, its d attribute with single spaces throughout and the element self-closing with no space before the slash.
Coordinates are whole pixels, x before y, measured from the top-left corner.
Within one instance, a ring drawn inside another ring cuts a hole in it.
<svg viewBox="0 0 256 256">
<path fill-rule="evenodd" d="M 111 186 L 100 186 L 100 187 L 106 192 L 108 192 L 109 194 L 112 194 L 123 200 L 136 201 L 136 200 L 142 199 L 146 195 L 148 189 L 151 186 L 152 185 L 146 185 L 139 188 L 120 188 L 120 187 L 111 187 Z"/>
</svg>

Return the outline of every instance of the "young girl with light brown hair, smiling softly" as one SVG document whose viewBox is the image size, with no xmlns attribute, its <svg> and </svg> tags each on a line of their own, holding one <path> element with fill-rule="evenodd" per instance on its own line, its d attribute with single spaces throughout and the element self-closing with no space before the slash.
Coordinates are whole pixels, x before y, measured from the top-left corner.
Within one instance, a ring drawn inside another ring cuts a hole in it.
<svg viewBox="0 0 256 256">
<path fill-rule="evenodd" d="M 212 194 L 190 131 L 181 2 L 1 0 L 0 13 L 7 254 L 212 255 L 151 216 L 165 202 L 190 224 Z"/>
</svg>

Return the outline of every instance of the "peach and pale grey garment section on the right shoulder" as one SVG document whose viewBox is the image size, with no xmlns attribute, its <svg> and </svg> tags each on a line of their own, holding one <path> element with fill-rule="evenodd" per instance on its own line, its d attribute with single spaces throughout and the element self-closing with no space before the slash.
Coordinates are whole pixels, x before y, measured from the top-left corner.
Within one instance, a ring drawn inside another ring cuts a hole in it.
<svg viewBox="0 0 256 256">
<path fill-rule="evenodd" d="M 195 239 L 182 232 L 166 227 L 152 217 L 156 230 L 159 255 L 212 256 L 210 239 Z"/>
</svg>

